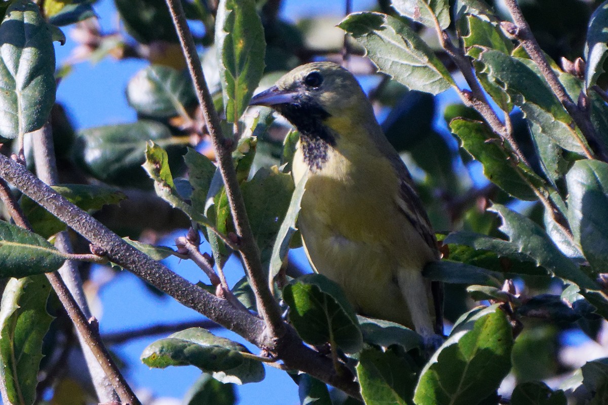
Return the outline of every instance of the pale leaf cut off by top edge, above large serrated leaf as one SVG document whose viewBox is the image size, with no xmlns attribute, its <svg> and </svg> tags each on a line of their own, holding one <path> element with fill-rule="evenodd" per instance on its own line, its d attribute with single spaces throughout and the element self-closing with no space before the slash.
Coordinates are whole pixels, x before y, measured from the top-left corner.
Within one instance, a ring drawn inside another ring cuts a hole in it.
<svg viewBox="0 0 608 405">
<path fill-rule="evenodd" d="M 430 29 L 442 30 L 450 25 L 450 6 L 447 0 L 392 0 L 397 12 Z"/>
</svg>

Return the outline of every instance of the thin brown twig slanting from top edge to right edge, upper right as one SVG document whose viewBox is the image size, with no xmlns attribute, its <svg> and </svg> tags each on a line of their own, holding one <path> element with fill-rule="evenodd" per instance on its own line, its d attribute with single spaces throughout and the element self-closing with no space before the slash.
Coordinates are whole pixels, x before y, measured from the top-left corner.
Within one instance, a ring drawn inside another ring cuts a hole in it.
<svg viewBox="0 0 608 405">
<path fill-rule="evenodd" d="M 593 128 L 589 115 L 582 111 L 576 103 L 572 101 L 572 98 L 567 94 L 564 85 L 559 81 L 559 78 L 553 69 L 551 69 L 544 52 L 542 52 L 541 46 L 539 46 L 536 38 L 534 38 L 534 35 L 532 34 L 528 22 L 523 18 L 522 10 L 520 10 L 519 5 L 517 5 L 517 1 L 505 0 L 505 5 L 509 9 L 511 17 L 516 25 L 514 29 L 509 30 L 509 33 L 519 39 L 523 48 L 528 52 L 528 55 L 530 55 L 530 58 L 532 58 L 534 63 L 536 63 L 541 70 L 541 73 L 545 80 L 547 80 L 553 94 L 558 97 L 558 100 L 568 111 L 568 114 L 573 118 L 578 128 L 581 129 L 582 135 L 589 143 L 596 146 L 596 149 L 598 149 L 596 152 L 598 152 L 601 155 L 601 158 L 606 161 L 607 156 L 601 147 L 601 143 L 598 142 L 598 135 L 595 128 Z M 592 159 L 595 157 L 593 151 L 587 148 L 584 141 L 579 140 L 579 144 L 587 158 Z"/>
</svg>

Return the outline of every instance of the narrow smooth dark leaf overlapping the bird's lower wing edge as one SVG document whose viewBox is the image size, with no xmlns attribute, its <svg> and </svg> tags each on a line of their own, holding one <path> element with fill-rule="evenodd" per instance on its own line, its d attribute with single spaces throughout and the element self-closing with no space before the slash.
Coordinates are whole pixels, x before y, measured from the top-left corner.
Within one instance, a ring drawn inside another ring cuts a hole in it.
<svg viewBox="0 0 608 405">
<path fill-rule="evenodd" d="M 452 260 L 430 262 L 424 267 L 422 274 L 432 281 L 449 284 L 481 284 L 500 287 L 504 280 L 503 275 L 496 271 Z"/>
</svg>

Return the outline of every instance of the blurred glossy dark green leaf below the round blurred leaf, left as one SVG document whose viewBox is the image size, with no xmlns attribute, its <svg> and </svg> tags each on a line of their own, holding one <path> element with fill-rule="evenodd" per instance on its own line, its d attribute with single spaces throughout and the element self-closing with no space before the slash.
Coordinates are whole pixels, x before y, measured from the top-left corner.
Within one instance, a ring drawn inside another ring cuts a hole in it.
<svg viewBox="0 0 608 405">
<path fill-rule="evenodd" d="M 140 120 L 89 128 L 78 132 L 75 159 L 96 179 L 121 186 L 142 186 L 148 176 L 142 170 L 146 143 L 153 140 L 159 145 L 170 145 L 171 132 L 163 124 Z M 181 155 L 182 148 L 170 148 L 171 162 Z"/>
</svg>

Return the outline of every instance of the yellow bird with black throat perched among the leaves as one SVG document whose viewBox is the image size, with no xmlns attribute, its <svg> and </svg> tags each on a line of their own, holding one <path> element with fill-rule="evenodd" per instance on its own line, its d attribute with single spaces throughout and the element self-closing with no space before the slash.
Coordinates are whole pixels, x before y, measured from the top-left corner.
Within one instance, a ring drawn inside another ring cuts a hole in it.
<svg viewBox="0 0 608 405">
<path fill-rule="evenodd" d="M 309 63 L 251 104 L 274 108 L 300 132 L 293 175 L 295 183 L 309 175 L 298 221 L 314 270 L 362 315 L 425 340 L 441 334 L 441 286 L 421 274 L 438 260 L 437 242 L 358 81 L 335 63 Z"/>
</svg>

